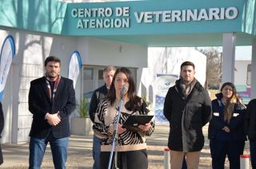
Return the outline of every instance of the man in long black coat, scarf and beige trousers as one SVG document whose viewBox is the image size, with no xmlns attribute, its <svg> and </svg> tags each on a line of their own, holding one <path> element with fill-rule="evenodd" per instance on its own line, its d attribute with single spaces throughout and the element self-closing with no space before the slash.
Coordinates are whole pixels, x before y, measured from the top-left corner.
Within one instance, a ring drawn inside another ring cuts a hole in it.
<svg viewBox="0 0 256 169">
<path fill-rule="evenodd" d="M 171 168 L 182 168 L 184 155 L 188 168 L 198 168 L 204 145 L 202 127 L 210 121 L 212 112 L 208 92 L 194 78 L 194 63 L 182 63 L 180 79 L 166 94 L 163 113 L 170 122 Z"/>
</svg>

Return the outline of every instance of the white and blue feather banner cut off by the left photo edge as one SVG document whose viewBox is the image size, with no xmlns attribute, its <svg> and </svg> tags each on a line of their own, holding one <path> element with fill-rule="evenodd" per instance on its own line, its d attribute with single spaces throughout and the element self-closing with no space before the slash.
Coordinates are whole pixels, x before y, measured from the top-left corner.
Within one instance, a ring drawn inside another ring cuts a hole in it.
<svg viewBox="0 0 256 169">
<path fill-rule="evenodd" d="M 3 41 L 0 53 L 0 102 L 2 102 L 4 88 L 6 86 L 7 76 L 10 70 L 11 62 L 15 56 L 14 38 L 8 35 Z"/>
</svg>

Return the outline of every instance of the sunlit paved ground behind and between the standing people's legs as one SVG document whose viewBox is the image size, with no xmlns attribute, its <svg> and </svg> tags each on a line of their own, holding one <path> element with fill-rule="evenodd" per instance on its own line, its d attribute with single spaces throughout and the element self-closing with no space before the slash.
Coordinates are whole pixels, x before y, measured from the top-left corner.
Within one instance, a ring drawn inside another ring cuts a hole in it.
<svg viewBox="0 0 256 169">
<path fill-rule="evenodd" d="M 149 168 L 160 169 L 164 168 L 163 165 L 163 149 L 166 147 L 169 127 L 156 126 L 153 136 L 148 138 L 148 157 Z M 204 128 L 204 133 L 207 128 Z M 248 143 L 246 143 L 245 154 L 248 154 Z M 2 145 L 4 154 L 4 163 L 0 168 L 27 168 L 28 167 L 28 144 L 22 145 Z M 209 141 L 206 139 L 205 147 L 202 150 L 199 168 L 211 168 Z M 67 160 L 67 168 L 86 169 L 92 168 L 92 136 L 71 136 L 69 155 Z M 43 159 L 42 168 L 54 168 L 50 147 L 46 149 L 46 155 Z M 226 163 L 226 168 L 228 163 Z"/>
</svg>

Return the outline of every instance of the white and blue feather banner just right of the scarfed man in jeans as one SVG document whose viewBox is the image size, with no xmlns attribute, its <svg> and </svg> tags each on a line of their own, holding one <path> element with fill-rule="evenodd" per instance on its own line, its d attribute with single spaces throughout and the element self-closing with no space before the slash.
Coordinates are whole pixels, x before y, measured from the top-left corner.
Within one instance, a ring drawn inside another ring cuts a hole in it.
<svg viewBox="0 0 256 169">
<path fill-rule="evenodd" d="M 78 51 L 74 51 L 70 57 L 70 65 L 68 69 L 68 78 L 73 81 L 75 87 L 78 80 L 80 69 L 82 68 L 82 60 Z"/>
</svg>

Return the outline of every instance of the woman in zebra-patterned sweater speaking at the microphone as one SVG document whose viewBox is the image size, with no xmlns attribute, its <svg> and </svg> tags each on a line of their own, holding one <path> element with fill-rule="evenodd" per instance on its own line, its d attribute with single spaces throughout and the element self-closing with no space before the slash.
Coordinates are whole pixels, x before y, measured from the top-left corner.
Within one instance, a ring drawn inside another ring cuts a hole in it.
<svg viewBox="0 0 256 169">
<path fill-rule="evenodd" d="M 118 103 L 121 99 L 121 89 L 126 87 L 122 92 L 121 116 L 118 122 L 118 140 L 117 140 L 117 159 L 118 163 L 114 164 L 114 156 L 110 162 L 111 145 L 114 139 L 114 124 L 118 119 Z M 94 118 L 94 134 L 101 139 L 100 164 L 101 168 L 107 168 L 109 162 L 111 167 L 114 165 L 118 168 L 126 169 L 147 169 L 146 153 L 146 136 L 154 132 L 154 121 L 139 125 L 138 132 L 122 128 L 122 124 L 129 116 L 147 115 L 150 113 L 146 108 L 146 102 L 141 97 L 135 95 L 136 89 L 131 72 L 127 68 L 117 69 L 114 73 L 110 90 L 105 99 L 101 100 Z"/>
</svg>

